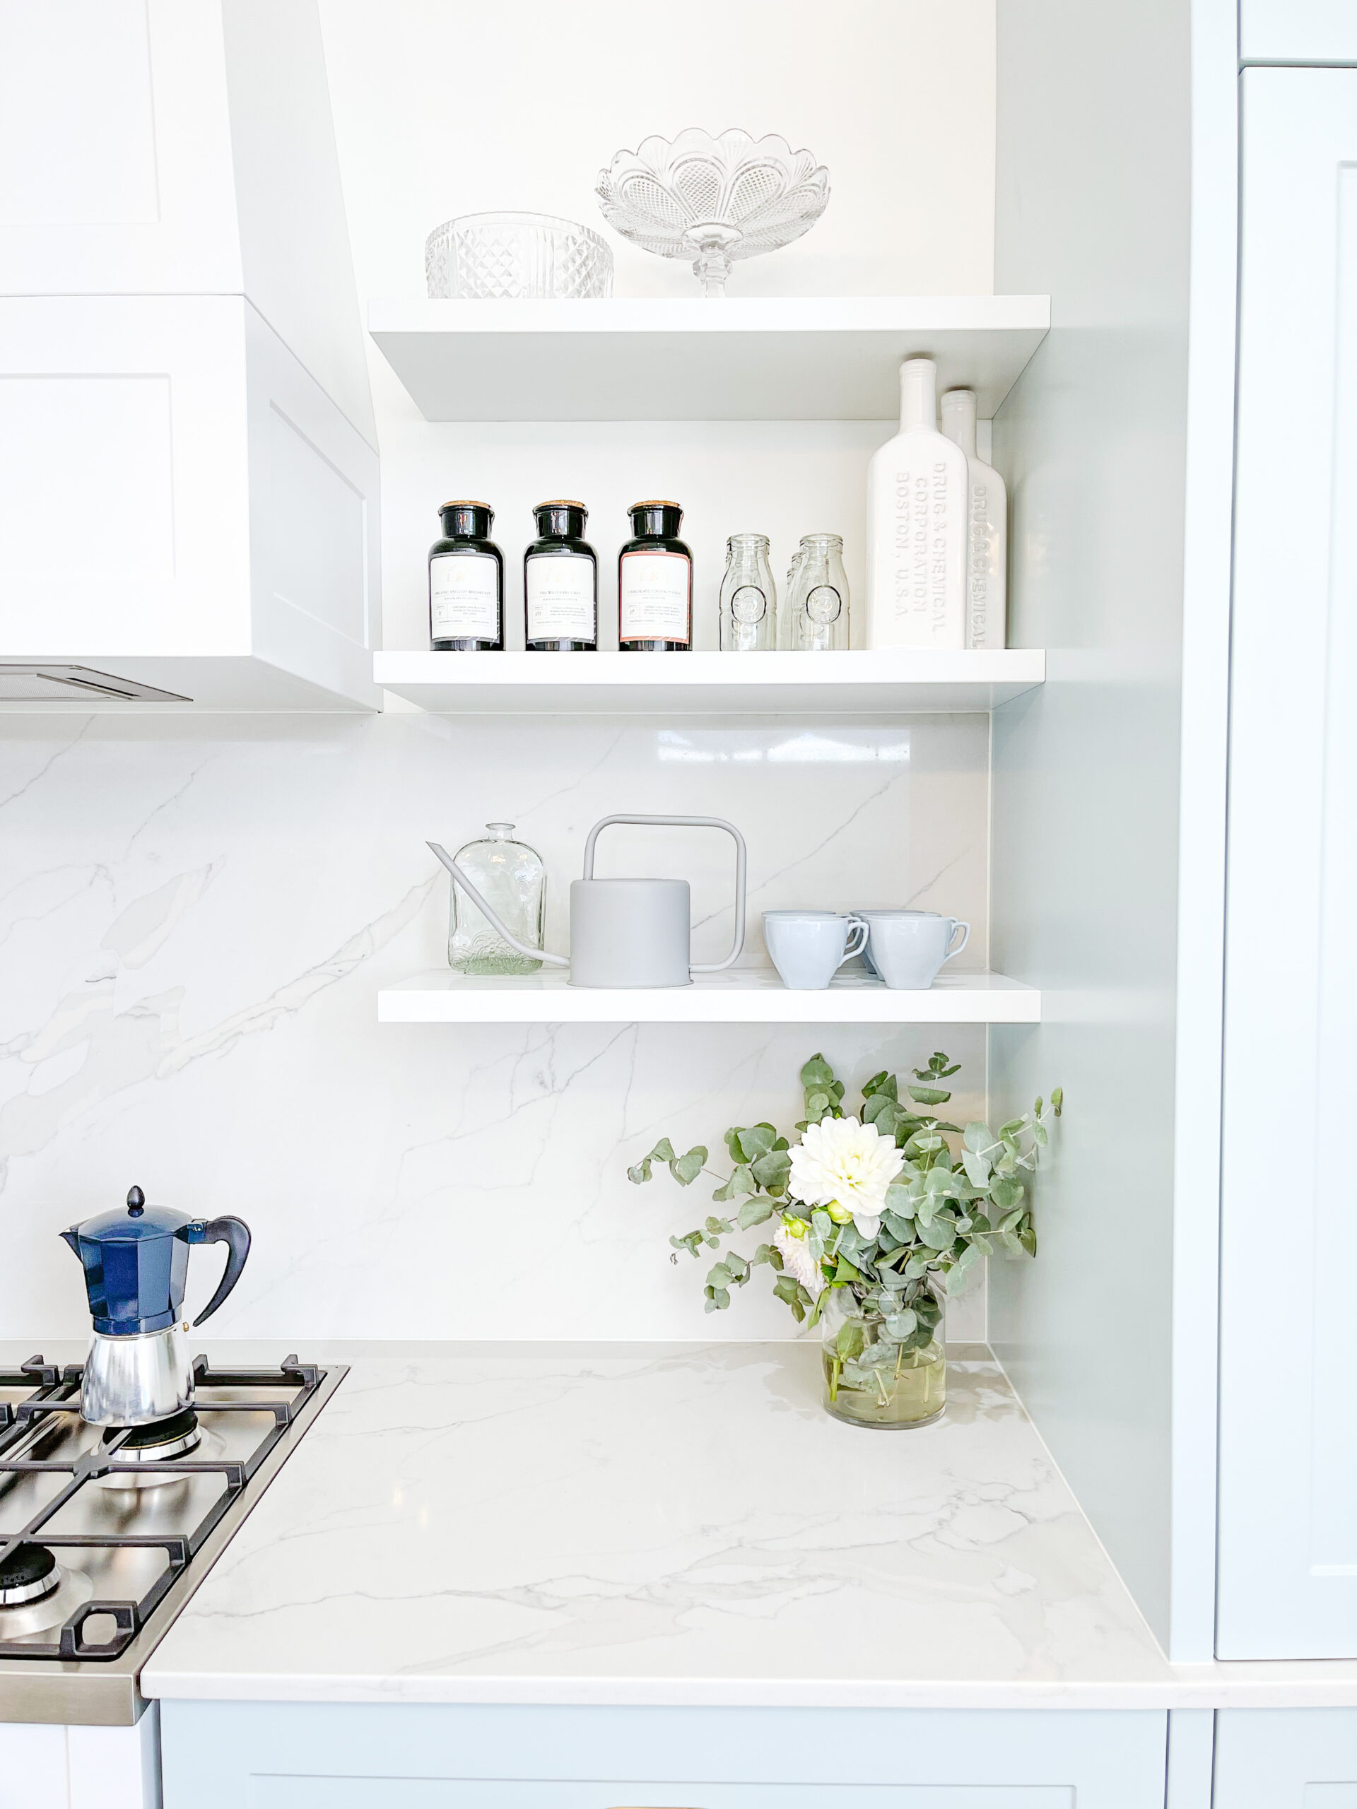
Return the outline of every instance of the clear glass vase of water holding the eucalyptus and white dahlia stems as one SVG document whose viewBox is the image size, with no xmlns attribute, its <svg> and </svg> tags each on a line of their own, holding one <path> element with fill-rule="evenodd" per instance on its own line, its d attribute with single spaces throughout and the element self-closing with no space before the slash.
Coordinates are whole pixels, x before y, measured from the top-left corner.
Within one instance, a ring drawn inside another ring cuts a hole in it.
<svg viewBox="0 0 1357 1809">
<path fill-rule="evenodd" d="M 825 1312 L 825 1411 L 836 1420 L 903 1431 L 941 1418 L 946 1407 L 943 1302 L 925 1293 L 910 1312 L 916 1326 L 905 1339 L 894 1339 L 885 1317 L 856 1301 L 836 1299 Z"/>
</svg>

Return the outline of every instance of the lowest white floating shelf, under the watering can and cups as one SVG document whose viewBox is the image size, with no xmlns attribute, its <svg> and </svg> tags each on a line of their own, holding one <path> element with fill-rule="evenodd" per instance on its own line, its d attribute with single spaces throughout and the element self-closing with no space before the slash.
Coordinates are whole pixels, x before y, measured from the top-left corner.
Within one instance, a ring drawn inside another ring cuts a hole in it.
<svg viewBox="0 0 1357 1809">
<path fill-rule="evenodd" d="M 691 986 L 570 986 L 565 968 L 507 979 L 438 970 L 376 995 L 380 1024 L 1040 1024 L 1042 995 L 1002 973 L 939 975 L 926 993 L 841 975 L 792 993 L 771 968 L 702 973 Z"/>
</svg>

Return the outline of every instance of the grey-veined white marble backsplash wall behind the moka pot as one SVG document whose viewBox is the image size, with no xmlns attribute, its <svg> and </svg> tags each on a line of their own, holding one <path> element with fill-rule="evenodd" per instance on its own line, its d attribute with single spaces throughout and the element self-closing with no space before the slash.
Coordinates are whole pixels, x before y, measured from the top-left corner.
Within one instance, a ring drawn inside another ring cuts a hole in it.
<svg viewBox="0 0 1357 1809">
<path fill-rule="evenodd" d="M 666 1237 L 709 1187 L 626 1179 L 659 1134 L 791 1123 L 816 1047 L 850 1080 L 935 1046 L 984 1094 L 984 1031 L 834 1026 L 378 1026 L 445 959 L 458 847 L 512 819 L 566 881 L 613 810 L 729 816 L 747 961 L 774 904 L 916 903 L 986 964 L 988 722 L 878 725 L 422 715 L 31 715 L 0 725 L 0 1335 L 80 1337 L 62 1227 L 154 1199 L 253 1228 L 221 1337 L 785 1337 L 762 1277 L 702 1313 Z M 729 939 L 729 845 L 612 832 L 604 872 L 686 874 L 695 953 Z M 190 1308 L 217 1254 L 199 1252 Z M 982 1333 L 982 1297 L 952 1331 Z"/>
</svg>

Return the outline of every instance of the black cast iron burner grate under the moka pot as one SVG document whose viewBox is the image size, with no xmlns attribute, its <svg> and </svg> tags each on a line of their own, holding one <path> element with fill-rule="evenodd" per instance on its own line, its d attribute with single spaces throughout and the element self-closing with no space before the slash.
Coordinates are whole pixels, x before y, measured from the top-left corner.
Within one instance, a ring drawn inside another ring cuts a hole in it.
<svg viewBox="0 0 1357 1809">
<path fill-rule="evenodd" d="M 210 1411 L 212 1415 L 255 1413 L 273 1422 L 244 1456 L 199 1460 L 190 1449 L 183 1456 L 156 1460 L 157 1471 L 183 1476 L 219 1474 L 223 1478 L 224 1485 L 221 1492 L 197 1523 L 190 1530 L 176 1532 L 47 1532 L 43 1529 L 58 1518 L 62 1509 L 74 1501 L 81 1491 L 96 1485 L 100 1478 L 145 1473 L 145 1458 L 127 1462 L 119 1453 L 125 1445 L 136 1451 L 145 1444 L 161 1442 L 168 1429 L 168 1422 L 163 1420 L 156 1427 L 116 1427 L 110 1429 L 110 1435 L 105 1433 L 92 1447 L 65 1460 L 25 1456 L 25 1451 L 43 1444 L 43 1427 L 51 1427 L 58 1416 L 74 1415 L 76 1420 L 80 1418 L 80 1377 L 81 1364 L 67 1364 L 65 1369 L 58 1369 L 54 1364 L 43 1362 L 42 1357 L 31 1357 L 18 1369 L 0 1369 L 0 1388 L 9 1391 L 31 1389 L 27 1398 L 20 1402 L 0 1402 L 0 1568 L 25 1567 L 34 1547 L 51 1552 L 58 1563 L 62 1561 L 62 1552 L 69 1554 L 71 1550 L 159 1547 L 165 1550 L 166 1565 L 154 1583 L 134 1601 L 100 1596 L 81 1601 L 62 1626 L 52 1628 L 47 1641 L 0 1639 L 0 1659 L 60 1659 L 69 1662 L 72 1659 L 109 1661 L 119 1657 L 138 1637 L 170 1588 L 174 1588 L 194 1563 L 212 1530 L 230 1512 L 273 1447 L 288 1435 L 288 1427 L 324 1382 L 326 1371 L 315 1364 L 299 1362 L 297 1355 L 284 1357 L 277 1369 L 212 1369 L 206 1357 L 197 1357 L 194 1360 L 194 1393 L 201 1411 Z M 288 1389 L 282 1398 L 208 1398 L 214 1389 L 279 1388 Z M 195 1420 L 190 1420 L 188 1413 L 177 1418 L 185 1420 L 183 1431 L 195 1425 Z M 183 1431 L 179 1433 L 179 1442 L 183 1440 Z M 150 1438 L 148 1435 L 152 1433 L 157 1436 Z M 7 1485 L 29 1474 L 60 1476 L 62 1473 L 69 1480 L 58 1487 L 52 1498 L 24 1527 L 5 1527 L 4 1496 Z M 116 1632 L 110 1639 L 85 1641 L 85 1623 L 92 1615 L 112 1619 Z M 4 1612 L 0 1610 L 2 1632 Z"/>
</svg>

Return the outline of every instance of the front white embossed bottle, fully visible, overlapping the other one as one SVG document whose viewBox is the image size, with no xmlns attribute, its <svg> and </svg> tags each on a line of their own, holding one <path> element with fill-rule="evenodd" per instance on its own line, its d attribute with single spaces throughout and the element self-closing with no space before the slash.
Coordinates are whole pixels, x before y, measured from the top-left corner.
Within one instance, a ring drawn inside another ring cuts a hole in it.
<svg viewBox="0 0 1357 1809">
<path fill-rule="evenodd" d="M 901 364 L 899 432 L 867 469 L 867 646 L 966 646 L 966 454 L 932 358 Z"/>
</svg>

